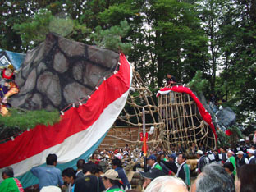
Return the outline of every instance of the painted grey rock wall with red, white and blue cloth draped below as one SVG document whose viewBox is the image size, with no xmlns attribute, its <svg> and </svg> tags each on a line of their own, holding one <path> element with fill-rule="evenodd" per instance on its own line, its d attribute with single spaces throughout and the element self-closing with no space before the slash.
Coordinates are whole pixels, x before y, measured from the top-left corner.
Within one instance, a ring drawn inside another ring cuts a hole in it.
<svg viewBox="0 0 256 192">
<path fill-rule="evenodd" d="M 60 169 L 89 158 L 124 107 L 131 79 L 123 53 L 48 34 L 26 54 L 16 75 L 20 91 L 8 103 L 21 112 L 57 110 L 60 121 L 2 141 L 0 168 L 13 167 L 28 187 L 38 183 L 30 169 L 45 165 L 49 153 L 57 154 Z"/>
</svg>

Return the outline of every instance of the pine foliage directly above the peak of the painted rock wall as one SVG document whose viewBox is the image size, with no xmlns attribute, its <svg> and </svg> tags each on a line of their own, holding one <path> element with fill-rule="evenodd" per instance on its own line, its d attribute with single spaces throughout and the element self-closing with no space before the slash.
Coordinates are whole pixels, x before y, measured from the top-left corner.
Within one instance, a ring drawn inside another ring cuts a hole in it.
<svg viewBox="0 0 256 192">
<path fill-rule="evenodd" d="M 48 9 L 41 9 L 25 23 L 14 25 L 13 29 L 21 35 L 23 46 L 28 48 L 41 43 L 49 32 L 85 41 L 85 36 L 91 31 L 85 24 L 80 25 L 78 21 L 72 20 L 67 13 L 53 16 Z"/>
</svg>

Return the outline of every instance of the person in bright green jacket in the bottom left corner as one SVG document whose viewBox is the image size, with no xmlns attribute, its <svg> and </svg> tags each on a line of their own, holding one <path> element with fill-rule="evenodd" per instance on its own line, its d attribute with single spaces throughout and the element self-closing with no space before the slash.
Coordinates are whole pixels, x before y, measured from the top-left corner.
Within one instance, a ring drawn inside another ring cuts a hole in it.
<svg viewBox="0 0 256 192">
<path fill-rule="evenodd" d="M 2 170 L 3 181 L 0 185 L 1 192 L 24 192 L 21 182 L 13 176 L 12 167 L 5 167 Z"/>
</svg>

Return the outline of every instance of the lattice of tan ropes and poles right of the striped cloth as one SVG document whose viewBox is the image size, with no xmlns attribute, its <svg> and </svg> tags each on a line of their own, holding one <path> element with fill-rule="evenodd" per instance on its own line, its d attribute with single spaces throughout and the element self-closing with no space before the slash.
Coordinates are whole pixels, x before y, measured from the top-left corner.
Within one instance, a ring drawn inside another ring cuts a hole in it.
<svg viewBox="0 0 256 192">
<path fill-rule="evenodd" d="M 126 107 L 115 123 L 117 125 L 121 122 L 122 125 L 128 126 L 127 131 L 122 132 L 122 135 L 132 135 L 130 127 L 138 127 L 138 133 L 143 132 L 142 111 L 144 108 L 147 131 L 149 132 L 149 129 L 153 127 L 153 134 L 149 135 L 147 141 L 148 153 L 158 147 L 170 152 L 171 145 L 177 144 L 181 144 L 184 149 L 189 149 L 193 142 L 205 149 L 216 148 L 213 131 L 203 121 L 196 103 L 189 94 L 171 91 L 170 94 L 160 95 L 159 98 L 153 97 L 153 93 L 147 88 L 149 86 L 145 85 L 139 73 L 134 70 L 133 74 Z M 115 126 L 112 129 L 118 131 Z M 113 135 L 108 135 L 108 137 L 125 141 L 132 149 L 139 149 L 143 144 L 139 135 L 137 140 L 123 139 L 121 136 Z"/>
</svg>

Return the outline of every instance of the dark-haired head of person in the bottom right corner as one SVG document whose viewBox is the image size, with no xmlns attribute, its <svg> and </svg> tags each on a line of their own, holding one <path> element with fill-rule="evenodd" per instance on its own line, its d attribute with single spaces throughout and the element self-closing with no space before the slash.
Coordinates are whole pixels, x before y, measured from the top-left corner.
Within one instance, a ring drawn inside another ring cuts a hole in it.
<svg viewBox="0 0 256 192">
<path fill-rule="evenodd" d="M 256 190 L 256 165 L 246 164 L 238 169 L 238 181 L 235 181 L 235 191 L 255 192 Z"/>
</svg>

